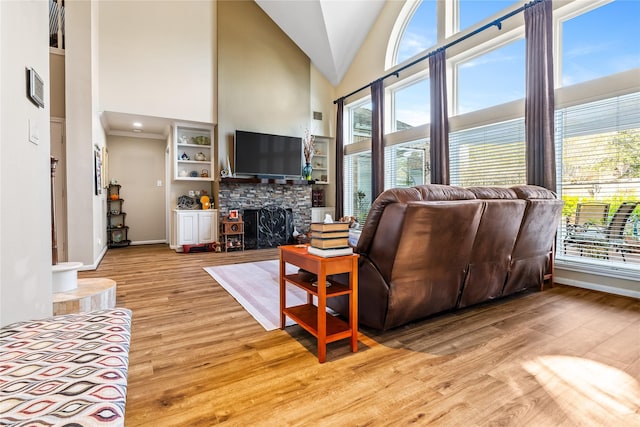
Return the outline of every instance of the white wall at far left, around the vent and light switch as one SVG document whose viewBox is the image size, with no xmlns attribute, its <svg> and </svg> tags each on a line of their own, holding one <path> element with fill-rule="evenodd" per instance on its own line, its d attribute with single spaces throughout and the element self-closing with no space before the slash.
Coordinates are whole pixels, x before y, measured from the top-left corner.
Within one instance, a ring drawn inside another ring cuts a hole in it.
<svg viewBox="0 0 640 427">
<path fill-rule="evenodd" d="M 0 326 L 52 314 L 48 20 L 45 1 L 0 1 Z M 30 67 L 45 108 L 25 96 Z"/>
</svg>

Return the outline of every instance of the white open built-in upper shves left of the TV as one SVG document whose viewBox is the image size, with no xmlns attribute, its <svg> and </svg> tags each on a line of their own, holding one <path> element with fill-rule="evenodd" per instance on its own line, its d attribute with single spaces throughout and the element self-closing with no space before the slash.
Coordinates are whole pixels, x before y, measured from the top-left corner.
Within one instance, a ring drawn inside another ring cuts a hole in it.
<svg viewBox="0 0 640 427">
<path fill-rule="evenodd" d="M 213 128 L 174 124 L 173 179 L 213 181 Z"/>
</svg>

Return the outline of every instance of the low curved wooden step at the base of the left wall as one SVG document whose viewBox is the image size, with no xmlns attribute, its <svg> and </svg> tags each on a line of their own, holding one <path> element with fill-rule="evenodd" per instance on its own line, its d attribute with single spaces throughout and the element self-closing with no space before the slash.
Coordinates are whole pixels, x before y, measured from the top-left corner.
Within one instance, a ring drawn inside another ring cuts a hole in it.
<svg viewBox="0 0 640 427">
<path fill-rule="evenodd" d="M 111 279 L 78 279 L 76 289 L 53 294 L 54 316 L 114 308 L 115 305 L 116 282 Z"/>
</svg>

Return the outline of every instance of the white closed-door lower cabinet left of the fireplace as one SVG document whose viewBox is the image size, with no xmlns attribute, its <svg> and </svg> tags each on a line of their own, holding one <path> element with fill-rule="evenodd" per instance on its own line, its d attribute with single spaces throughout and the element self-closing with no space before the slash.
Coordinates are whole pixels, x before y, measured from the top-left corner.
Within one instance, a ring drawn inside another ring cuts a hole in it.
<svg viewBox="0 0 640 427">
<path fill-rule="evenodd" d="M 176 244 L 202 245 L 218 241 L 218 210 L 174 210 Z"/>
</svg>

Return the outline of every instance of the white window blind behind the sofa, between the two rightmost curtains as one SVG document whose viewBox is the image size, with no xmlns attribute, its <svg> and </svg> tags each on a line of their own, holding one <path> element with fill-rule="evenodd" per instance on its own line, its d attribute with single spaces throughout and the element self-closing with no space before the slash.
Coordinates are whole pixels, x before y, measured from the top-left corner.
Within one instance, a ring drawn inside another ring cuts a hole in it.
<svg viewBox="0 0 640 427">
<path fill-rule="evenodd" d="M 524 119 L 452 132 L 451 184 L 510 187 L 526 182 Z"/>
</svg>

